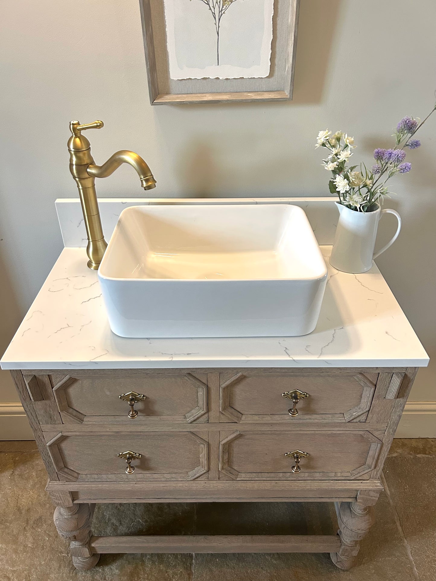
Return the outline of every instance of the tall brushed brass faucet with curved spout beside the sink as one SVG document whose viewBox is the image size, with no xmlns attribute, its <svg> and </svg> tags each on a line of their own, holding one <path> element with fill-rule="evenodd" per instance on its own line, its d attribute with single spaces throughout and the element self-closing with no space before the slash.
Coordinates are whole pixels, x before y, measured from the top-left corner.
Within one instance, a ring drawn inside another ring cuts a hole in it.
<svg viewBox="0 0 436 581">
<path fill-rule="evenodd" d="M 144 189 L 156 187 L 156 180 L 150 171 L 148 165 L 142 157 L 122 149 L 109 157 L 102 166 L 96 166 L 91 155 L 91 144 L 86 137 L 81 135 L 85 129 L 101 129 L 103 121 L 94 121 L 80 125 L 78 121 L 70 121 L 70 131 L 72 137 L 68 140 L 68 149 L 70 152 L 70 172 L 76 180 L 80 202 L 85 220 L 86 232 L 88 235 L 87 254 L 88 267 L 97 270 L 106 247 L 108 246 L 103 236 L 100 213 L 98 210 L 97 193 L 95 192 L 95 178 L 106 178 L 108 175 L 120 167 L 122 163 L 128 163 L 134 167 L 141 180 L 141 186 Z"/>
</svg>

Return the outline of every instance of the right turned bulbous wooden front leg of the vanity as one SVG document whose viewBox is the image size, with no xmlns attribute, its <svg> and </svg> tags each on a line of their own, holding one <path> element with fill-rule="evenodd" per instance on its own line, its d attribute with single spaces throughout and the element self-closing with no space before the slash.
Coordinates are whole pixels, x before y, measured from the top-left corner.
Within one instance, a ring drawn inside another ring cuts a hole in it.
<svg viewBox="0 0 436 581">
<path fill-rule="evenodd" d="M 374 509 L 356 502 L 335 503 L 335 507 L 341 548 L 338 553 L 330 553 L 330 557 L 339 569 L 351 569 L 359 553 L 360 541 L 374 522 Z"/>
</svg>

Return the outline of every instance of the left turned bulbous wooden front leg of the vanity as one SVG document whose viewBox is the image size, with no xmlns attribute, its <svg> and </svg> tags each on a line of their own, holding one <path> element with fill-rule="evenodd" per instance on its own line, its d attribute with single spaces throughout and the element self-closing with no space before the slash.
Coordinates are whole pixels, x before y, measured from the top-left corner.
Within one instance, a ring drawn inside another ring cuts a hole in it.
<svg viewBox="0 0 436 581">
<path fill-rule="evenodd" d="M 97 564 L 100 555 L 91 553 L 91 523 L 95 504 L 73 504 L 56 507 L 53 521 L 62 539 L 70 541 L 73 565 L 78 571 L 88 571 Z"/>
</svg>

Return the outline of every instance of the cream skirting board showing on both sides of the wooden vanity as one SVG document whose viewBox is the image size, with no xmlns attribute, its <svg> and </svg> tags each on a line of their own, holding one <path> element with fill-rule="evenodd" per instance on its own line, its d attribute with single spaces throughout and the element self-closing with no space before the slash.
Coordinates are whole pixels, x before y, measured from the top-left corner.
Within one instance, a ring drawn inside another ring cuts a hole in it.
<svg viewBox="0 0 436 581">
<path fill-rule="evenodd" d="M 408 401 L 395 437 L 436 437 L 436 401 Z M 33 440 L 23 407 L 0 402 L 0 440 Z"/>
</svg>

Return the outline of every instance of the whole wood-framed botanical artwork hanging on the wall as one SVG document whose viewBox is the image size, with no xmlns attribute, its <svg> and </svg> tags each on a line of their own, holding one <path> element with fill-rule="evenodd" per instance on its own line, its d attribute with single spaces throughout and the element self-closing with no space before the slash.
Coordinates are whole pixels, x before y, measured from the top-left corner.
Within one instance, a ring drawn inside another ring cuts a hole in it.
<svg viewBox="0 0 436 581">
<path fill-rule="evenodd" d="M 292 99 L 299 0 L 140 0 L 152 105 Z"/>
</svg>

